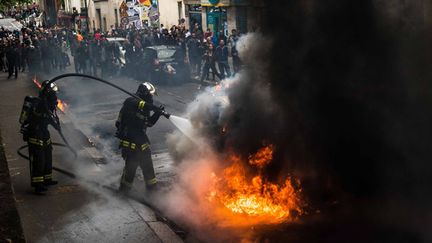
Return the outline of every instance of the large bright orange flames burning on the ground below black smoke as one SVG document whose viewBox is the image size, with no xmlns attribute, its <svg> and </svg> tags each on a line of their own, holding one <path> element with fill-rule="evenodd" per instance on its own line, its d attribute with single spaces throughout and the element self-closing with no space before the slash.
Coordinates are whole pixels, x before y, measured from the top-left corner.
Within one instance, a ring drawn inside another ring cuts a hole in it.
<svg viewBox="0 0 432 243">
<path fill-rule="evenodd" d="M 241 158 L 231 155 L 231 166 L 223 170 L 222 176 L 212 173 L 212 186 L 207 199 L 219 203 L 228 210 L 229 216 L 245 223 L 281 223 L 292 221 L 302 214 L 300 193 L 295 189 L 291 177 L 277 184 L 266 181 L 262 170 L 273 159 L 274 146 L 269 145 L 249 156 L 248 163 L 258 168 L 258 175 L 248 176 L 248 168 Z M 297 181 L 299 184 L 299 182 Z"/>
</svg>

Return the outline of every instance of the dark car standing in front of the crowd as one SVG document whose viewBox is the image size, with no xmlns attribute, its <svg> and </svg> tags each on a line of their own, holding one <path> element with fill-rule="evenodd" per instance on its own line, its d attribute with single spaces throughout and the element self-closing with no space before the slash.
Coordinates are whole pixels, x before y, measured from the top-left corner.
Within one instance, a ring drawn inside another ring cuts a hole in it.
<svg viewBox="0 0 432 243">
<path fill-rule="evenodd" d="M 190 68 L 184 51 L 177 46 L 149 46 L 143 52 L 143 71 L 158 84 L 190 81 Z"/>
</svg>

